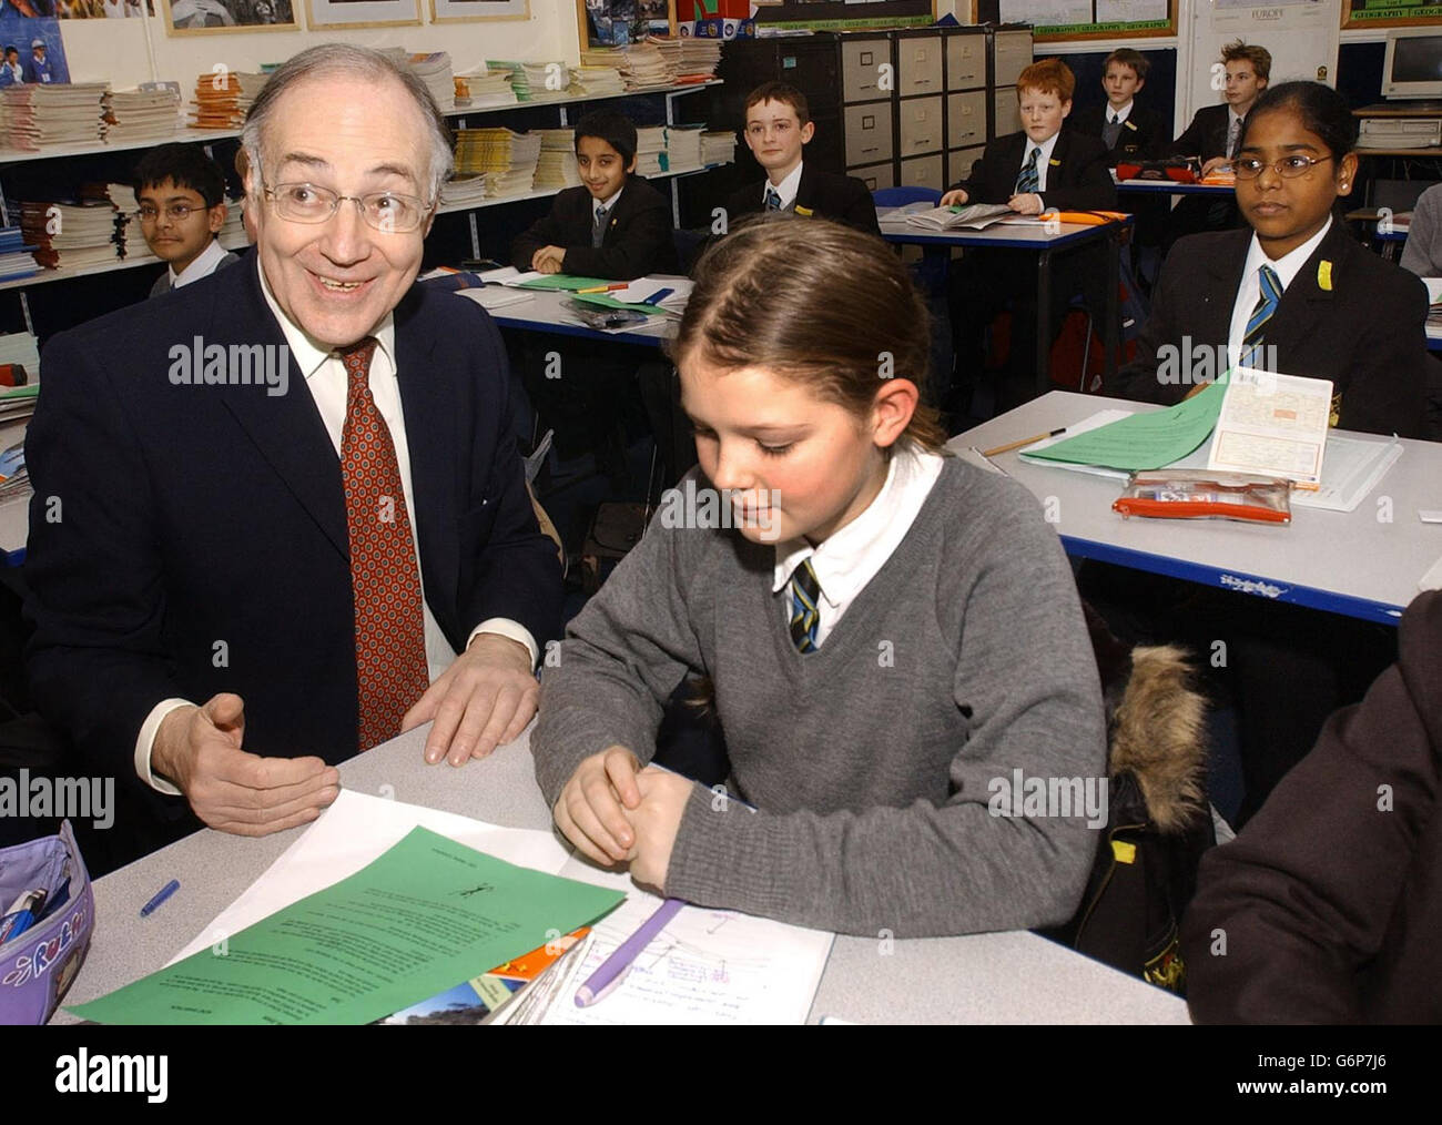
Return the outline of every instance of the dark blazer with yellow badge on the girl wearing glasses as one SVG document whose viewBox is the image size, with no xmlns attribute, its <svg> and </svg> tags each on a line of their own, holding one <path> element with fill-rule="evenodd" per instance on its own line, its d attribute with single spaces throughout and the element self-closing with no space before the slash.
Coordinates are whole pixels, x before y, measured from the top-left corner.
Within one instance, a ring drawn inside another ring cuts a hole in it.
<svg viewBox="0 0 1442 1125">
<path fill-rule="evenodd" d="M 1118 394 L 1146 402 L 1182 400 L 1191 384 L 1158 381 L 1158 349 L 1181 348 L 1184 338 L 1191 348 L 1226 349 L 1250 245 L 1247 228 L 1191 235 L 1172 247 L 1136 359 L 1118 372 Z M 1330 290 L 1318 281 L 1322 261 L 1331 262 Z M 1422 437 L 1426 314 L 1422 281 L 1357 245 L 1334 218 L 1282 294 L 1265 343 L 1276 346 L 1279 372 L 1332 381 L 1343 430 Z"/>
</svg>

